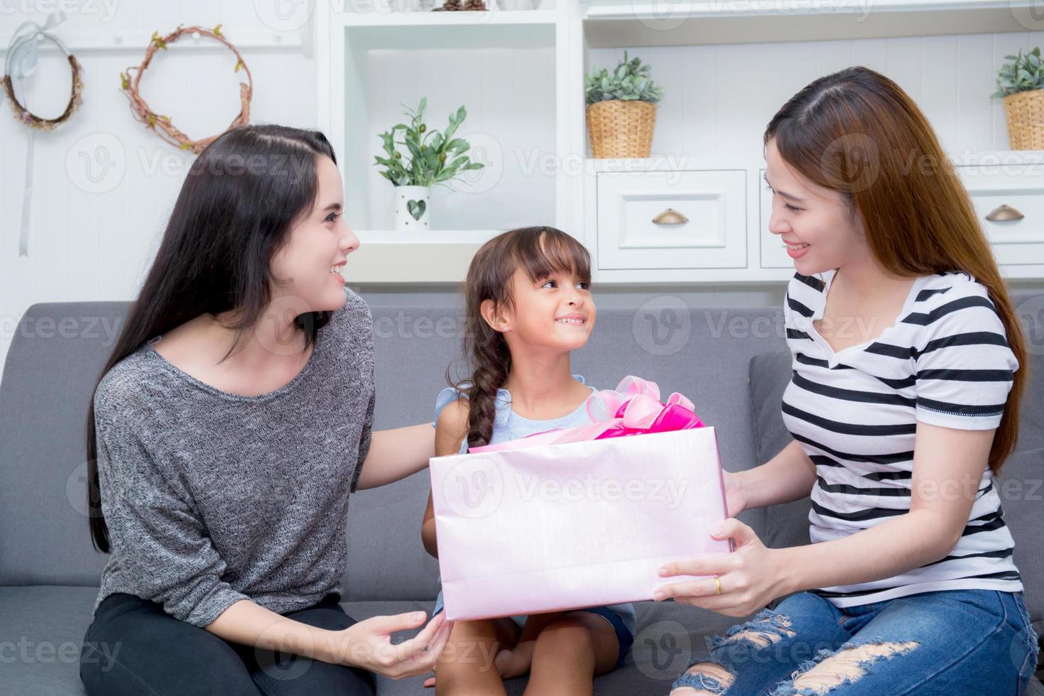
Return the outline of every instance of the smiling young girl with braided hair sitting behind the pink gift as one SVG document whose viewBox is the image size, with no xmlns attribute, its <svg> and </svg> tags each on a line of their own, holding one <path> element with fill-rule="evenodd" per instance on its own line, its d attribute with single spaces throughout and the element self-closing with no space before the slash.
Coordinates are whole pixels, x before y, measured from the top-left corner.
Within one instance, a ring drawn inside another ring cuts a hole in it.
<svg viewBox="0 0 1044 696">
<path fill-rule="evenodd" d="M 594 328 L 590 284 L 587 249 L 553 227 L 513 230 L 482 245 L 465 286 L 474 373 L 436 399 L 436 456 L 590 423 L 584 404 L 594 389 L 569 369 L 570 352 Z M 421 535 L 437 557 L 430 495 Z M 590 694 L 593 677 L 623 659 L 634 633 L 631 604 L 458 621 L 436 693 L 503 694 L 502 678 L 528 671 L 526 694 Z"/>
</svg>

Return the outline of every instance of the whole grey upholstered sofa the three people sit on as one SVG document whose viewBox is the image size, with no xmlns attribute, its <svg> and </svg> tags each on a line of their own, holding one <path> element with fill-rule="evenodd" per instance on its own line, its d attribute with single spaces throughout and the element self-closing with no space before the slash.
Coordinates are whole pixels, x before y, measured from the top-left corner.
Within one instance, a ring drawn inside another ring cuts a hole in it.
<svg viewBox="0 0 1044 696">
<path fill-rule="evenodd" d="M 1035 369 L 1019 452 L 1000 485 L 1016 561 L 1038 632 L 1044 632 L 1044 295 L 1020 296 Z M 85 517 L 85 409 L 115 340 L 125 303 L 41 304 L 18 326 L 0 384 L 0 692 L 81 694 L 79 645 L 104 556 Z M 376 427 L 429 421 L 446 365 L 458 357 L 455 310 L 374 307 Z M 1036 321 L 1036 323 L 1033 323 Z M 1030 326 L 1033 323 L 1033 326 Z M 756 359 L 755 357 L 758 356 Z M 753 360 L 752 360 L 753 359 Z M 637 374 L 688 394 L 716 426 L 727 470 L 765 461 L 786 441 L 779 404 L 789 379 L 778 308 L 705 310 L 660 297 L 604 309 L 573 371 L 615 386 Z M 752 379 L 753 376 L 753 379 Z M 437 563 L 421 545 L 427 473 L 353 497 L 348 520 L 345 609 L 356 619 L 430 611 Z M 750 510 L 741 519 L 769 546 L 808 543 L 808 501 Z M 637 605 L 639 631 L 626 666 L 595 681 L 597 694 L 665 694 L 702 654 L 704 638 L 735 620 L 673 602 Z M 380 678 L 381 694 L 432 693 L 421 678 Z M 519 694 L 524 679 L 507 682 Z M 1044 688 L 1035 681 L 1035 693 Z M 998 692 L 1000 693 L 1000 692 Z"/>
</svg>

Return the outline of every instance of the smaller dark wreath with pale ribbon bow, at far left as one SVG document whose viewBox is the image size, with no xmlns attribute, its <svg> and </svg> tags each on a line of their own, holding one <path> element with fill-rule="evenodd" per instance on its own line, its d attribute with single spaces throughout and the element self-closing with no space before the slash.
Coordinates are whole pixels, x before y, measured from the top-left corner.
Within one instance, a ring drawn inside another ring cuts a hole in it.
<svg viewBox="0 0 1044 696">
<path fill-rule="evenodd" d="M 69 51 L 66 45 L 57 37 L 48 31 L 48 29 L 53 28 L 64 20 L 65 15 L 54 13 L 47 18 L 43 26 L 32 21 L 23 22 L 21 26 L 15 29 L 15 33 L 10 39 L 10 45 L 7 47 L 6 57 L 4 58 L 3 91 L 6 93 L 7 98 L 10 99 L 10 107 L 15 110 L 15 116 L 30 128 L 53 130 L 56 126 L 68 121 L 73 112 L 84 103 L 84 78 L 81 77 L 84 67 L 79 65 L 79 61 Z M 69 95 L 69 103 L 66 104 L 65 111 L 57 118 L 41 118 L 37 116 L 26 109 L 15 95 L 15 78 L 24 79 L 31 76 L 35 70 L 38 37 L 50 41 L 57 46 L 66 54 L 66 57 L 69 59 L 69 68 L 72 69 L 72 92 Z"/>
</svg>

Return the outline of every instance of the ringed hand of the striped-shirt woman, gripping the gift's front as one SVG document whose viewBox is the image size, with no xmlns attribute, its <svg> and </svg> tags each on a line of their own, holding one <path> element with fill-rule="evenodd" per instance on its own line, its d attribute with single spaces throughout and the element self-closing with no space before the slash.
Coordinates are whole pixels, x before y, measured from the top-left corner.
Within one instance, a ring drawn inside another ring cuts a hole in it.
<svg viewBox="0 0 1044 696">
<path fill-rule="evenodd" d="M 732 505 L 729 506 L 730 511 Z M 732 537 L 734 553 L 679 560 L 660 569 L 662 577 L 707 575 L 710 577 L 666 584 L 657 590 L 656 600 L 673 597 L 675 601 L 730 617 L 745 617 L 787 594 L 781 583 L 782 563 L 779 550 L 767 549 L 754 530 L 735 518 L 721 523 L 711 534 L 714 538 Z M 715 595 L 714 576 L 721 581 L 721 594 Z"/>
</svg>

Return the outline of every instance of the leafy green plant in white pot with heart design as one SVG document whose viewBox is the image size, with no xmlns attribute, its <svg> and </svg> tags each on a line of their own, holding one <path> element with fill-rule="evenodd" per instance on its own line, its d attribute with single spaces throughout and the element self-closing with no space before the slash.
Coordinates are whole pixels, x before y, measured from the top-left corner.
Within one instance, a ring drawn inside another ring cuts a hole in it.
<svg viewBox="0 0 1044 696">
<path fill-rule="evenodd" d="M 381 176 L 396 187 L 395 226 L 403 232 L 430 229 L 432 186 L 482 168 L 465 154 L 471 147 L 468 141 L 453 137 L 468 116 L 464 106 L 450 114 L 450 124 L 445 130 L 429 130 L 424 122 L 427 105 L 428 98 L 423 97 L 416 112 L 406 107 L 409 123 L 396 124 L 379 136 L 387 157 L 374 155 L 375 166 L 384 167 Z M 397 141 L 396 134 L 400 130 L 402 140 Z M 406 148 L 405 155 L 400 145 Z"/>
</svg>

